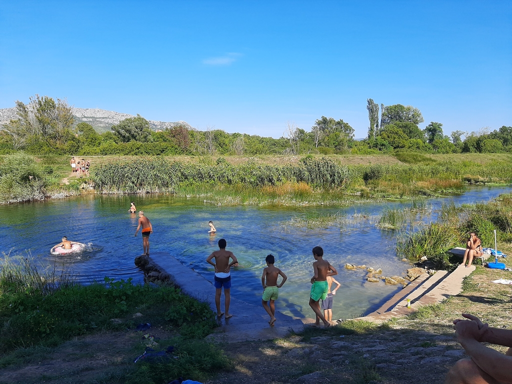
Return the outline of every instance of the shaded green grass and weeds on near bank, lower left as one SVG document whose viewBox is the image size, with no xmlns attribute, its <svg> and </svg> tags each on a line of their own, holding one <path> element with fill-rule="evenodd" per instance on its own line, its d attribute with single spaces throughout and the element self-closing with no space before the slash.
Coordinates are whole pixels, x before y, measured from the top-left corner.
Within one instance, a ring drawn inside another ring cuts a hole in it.
<svg viewBox="0 0 512 384">
<path fill-rule="evenodd" d="M 104 382 L 161 383 L 179 376 L 204 380 L 230 361 L 204 338 L 216 326 L 208 304 L 184 295 L 174 286 L 133 285 L 130 281 L 78 285 L 66 272 L 42 275 L 22 260 L 6 260 L 0 270 L 0 368 L 15 367 L 49 353 L 78 336 L 131 333 L 139 323 L 151 323 L 127 353 L 129 361 L 145 347 L 155 351 L 174 346 L 173 357 L 155 364 L 129 364 L 119 377 Z M 118 336 L 124 337 L 124 336 Z M 27 382 L 27 381 L 24 381 Z"/>
</svg>

